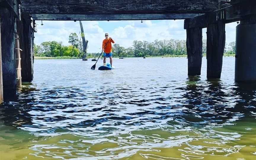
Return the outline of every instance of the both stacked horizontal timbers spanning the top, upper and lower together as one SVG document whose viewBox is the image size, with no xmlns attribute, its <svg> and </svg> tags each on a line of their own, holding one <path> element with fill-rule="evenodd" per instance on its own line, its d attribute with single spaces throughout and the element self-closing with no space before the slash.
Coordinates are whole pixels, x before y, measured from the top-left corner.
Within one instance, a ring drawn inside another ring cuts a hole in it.
<svg viewBox="0 0 256 160">
<path fill-rule="evenodd" d="M 186 19 L 215 11 L 228 0 L 21 0 L 34 20 Z"/>
</svg>

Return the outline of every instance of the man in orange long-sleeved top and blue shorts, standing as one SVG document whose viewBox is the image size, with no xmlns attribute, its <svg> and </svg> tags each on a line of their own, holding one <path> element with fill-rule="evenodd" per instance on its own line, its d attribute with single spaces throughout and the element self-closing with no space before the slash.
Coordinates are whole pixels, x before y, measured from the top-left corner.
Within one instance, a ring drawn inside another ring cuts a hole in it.
<svg viewBox="0 0 256 160">
<path fill-rule="evenodd" d="M 103 65 L 106 64 L 106 58 L 109 57 L 110 64 L 112 67 L 113 59 L 112 59 L 112 44 L 111 43 L 115 43 L 115 41 L 111 37 L 108 37 L 108 33 L 105 33 L 105 39 L 102 42 L 102 51 L 104 51 Z"/>
</svg>

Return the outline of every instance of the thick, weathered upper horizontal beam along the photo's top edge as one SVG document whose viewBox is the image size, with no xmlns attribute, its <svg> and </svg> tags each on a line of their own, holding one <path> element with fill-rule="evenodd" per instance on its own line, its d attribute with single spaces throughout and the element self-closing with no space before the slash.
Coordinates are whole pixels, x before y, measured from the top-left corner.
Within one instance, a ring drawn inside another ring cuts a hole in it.
<svg viewBox="0 0 256 160">
<path fill-rule="evenodd" d="M 21 0 L 31 14 L 206 13 L 226 6 L 220 0 Z"/>
</svg>

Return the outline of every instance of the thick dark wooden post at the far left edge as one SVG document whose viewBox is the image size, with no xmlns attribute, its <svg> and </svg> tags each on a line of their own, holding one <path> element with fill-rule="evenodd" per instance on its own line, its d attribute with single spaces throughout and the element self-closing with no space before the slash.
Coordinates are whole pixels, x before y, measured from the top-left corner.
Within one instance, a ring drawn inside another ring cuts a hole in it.
<svg viewBox="0 0 256 160">
<path fill-rule="evenodd" d="M 4 99 L 14 98 L 16 95 L 15 69 L 15 18 L 13 12 L 7 8 L 0 8 L 1 15 L 1 45 Z"/>
</svg>

